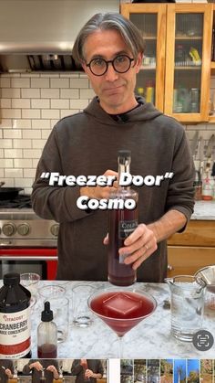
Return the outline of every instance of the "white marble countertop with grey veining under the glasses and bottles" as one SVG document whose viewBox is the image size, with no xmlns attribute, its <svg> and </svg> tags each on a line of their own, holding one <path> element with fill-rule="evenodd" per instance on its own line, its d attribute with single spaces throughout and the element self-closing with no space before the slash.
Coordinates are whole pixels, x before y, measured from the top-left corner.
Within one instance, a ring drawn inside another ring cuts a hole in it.
<svg viewBox="0 0 215 383">
<path fill-rule="evenodd" d="M 72 287 L 79 282 L 40 281 L 39 289 L 50 284 L 66 288 L 69 299 L 69 334 L 67 340 L 58 344 L 59 358 L 112 358 L 118 356 L 117 335 L 99 318 L 88 328 L 77 328 L 72 323 Z M 108 282 L 86 282 L 94 288 L 110 286 Z M 151 293 L 158 302 L 154 314 L 132 328 L 123 339 L 125 358 L 214 358 L 215 346 L 202 352 L 191 343 L 181 342 L 170 335 L 170 310 L 163 307 L 163 301 L 169 299 L 169 286 L 166 283 L 136 283 L 138 288 Z M 40 323 L 42 297 L 37 294 L 37 302 L 32 307 L 32 357 L 36 355 L 36 328 Z M 204 314 L 203 328 L 215 337 L 215 311 Z"/>
</svg>

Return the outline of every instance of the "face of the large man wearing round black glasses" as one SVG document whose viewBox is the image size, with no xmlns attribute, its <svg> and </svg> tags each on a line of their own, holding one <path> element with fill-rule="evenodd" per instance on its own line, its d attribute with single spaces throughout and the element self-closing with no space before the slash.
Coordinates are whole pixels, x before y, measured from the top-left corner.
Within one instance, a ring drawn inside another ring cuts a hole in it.
<svg viewBox="0 0 215 383">
<path fill-rule="evenodd" d="M 84 45 L 84 55 L 87 63 L 91 59 L 97 58 L 115 59 L 119 54 L 134 59 L 118 31 L 97 30 L 97 32 L 87 37 Z M 131 62 L 131 67 L 126 73 L 118 73 L 111 64 L 108 64 L 107 72 L 102 76 L 95 76 L 83 63 L 83 69 L 91 81 L 100 105 L 107 113 L 128 112 L 137 105 L 134 89 L 141 61 L 142 57 L 139 54 L 138 60 Z"/>
</svg>

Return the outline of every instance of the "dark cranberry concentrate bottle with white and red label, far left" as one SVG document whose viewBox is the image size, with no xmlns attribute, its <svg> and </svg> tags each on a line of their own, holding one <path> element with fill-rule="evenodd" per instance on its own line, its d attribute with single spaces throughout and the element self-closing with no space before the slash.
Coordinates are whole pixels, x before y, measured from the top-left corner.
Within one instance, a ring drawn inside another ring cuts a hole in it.
<svg viewBox="0 0 215 383">
<path fill-rule="evenodd" d="M 30 298 L 20 275 L 4 276 L 0 289 L 0 358 L 31 357 Z"/>
</svg>

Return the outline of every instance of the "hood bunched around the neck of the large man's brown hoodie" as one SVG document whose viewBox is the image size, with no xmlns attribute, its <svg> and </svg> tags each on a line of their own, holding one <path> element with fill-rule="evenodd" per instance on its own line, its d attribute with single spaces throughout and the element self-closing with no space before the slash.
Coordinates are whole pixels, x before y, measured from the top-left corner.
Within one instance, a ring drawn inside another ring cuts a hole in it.
<svg viewBox="0 0 215 383">
<path fill-rule="evenodd" d="M 98 98 L 95 97 L 84 112 L 93 116 L 99 122 L 107 123 L 108 125 L 149 121 L 163 114 L 159 112 L 152 103 L 146 102 L 144 98 L 136 96 L 136 100 L 138 101 L 138 108 L 113 115 L 105 112 L 104 109 L 101 108 Z"/>
</svg>

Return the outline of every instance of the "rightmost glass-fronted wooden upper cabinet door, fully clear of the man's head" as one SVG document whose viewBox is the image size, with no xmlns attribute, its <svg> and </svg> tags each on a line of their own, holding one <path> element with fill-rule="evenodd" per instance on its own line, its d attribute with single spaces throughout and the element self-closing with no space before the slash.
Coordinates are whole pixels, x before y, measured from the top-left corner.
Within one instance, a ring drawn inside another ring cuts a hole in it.
<svg viewBox="0 0 215 383">
<path fill-rule="evenodd" d="M 209 120 L 212 5 L 168 5 L 164 112 Z"/>
</svg>

